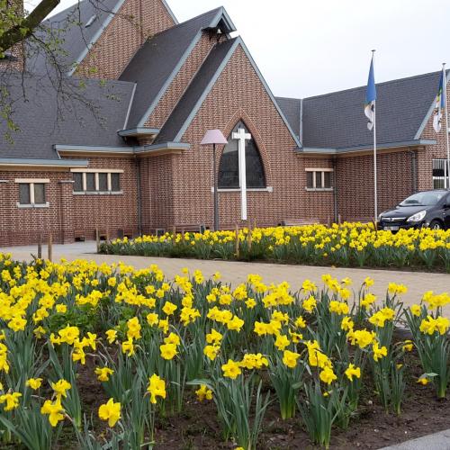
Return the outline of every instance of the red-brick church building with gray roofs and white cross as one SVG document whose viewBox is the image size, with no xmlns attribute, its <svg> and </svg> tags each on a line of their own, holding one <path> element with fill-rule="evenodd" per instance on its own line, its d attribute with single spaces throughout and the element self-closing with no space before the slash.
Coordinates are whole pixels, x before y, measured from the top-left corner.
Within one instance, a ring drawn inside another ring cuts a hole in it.
<svg viewBox="0 0 450 450">
<path fill-rule="evenodd" d="M 44 23 L 65 29 L 70 92 L 55 93 L 45 55 L 23 76 L 0 61 L 18 128 L 0 124 L 0 246 L 212 229 L 212 146 L 201 141 L 216 129 L 228 140 L 217 147 L 220 229 L 374 218 L 365 86 L 275 97 L 223 7 L 178 23 L 164 0 L 102 4 Z M 443 187 L 438 83 L 436 72 L 377 85 L 379 211 Z"/>
</svg>

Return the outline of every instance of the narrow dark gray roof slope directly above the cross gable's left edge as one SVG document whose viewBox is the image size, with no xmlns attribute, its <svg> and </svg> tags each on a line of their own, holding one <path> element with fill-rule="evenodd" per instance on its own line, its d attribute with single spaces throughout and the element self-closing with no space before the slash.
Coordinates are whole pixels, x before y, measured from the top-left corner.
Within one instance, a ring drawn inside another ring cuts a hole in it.
<svg viewBox="0 0 450 450">
<path fill-rule="evenodd" d="M 174 111 L 170 114 L 166 123 L 159 131 L 155 143 L 174 141 L 182 130 L 184 122 L 187 121 L 189 115 L 194 109 L 195 104 L 200 100 L 206 87 L 210 84 L 213 76 L 216 74 L 222 61 L 227 57 L 229 50 L 238 38 L 225 40 L 220 44 L 216 44 L 211 49 L 208 58 L 206 58 L 193 77 L 192 83 L 186 89 L 180 101 L 176 104 Z"/>
</svg>

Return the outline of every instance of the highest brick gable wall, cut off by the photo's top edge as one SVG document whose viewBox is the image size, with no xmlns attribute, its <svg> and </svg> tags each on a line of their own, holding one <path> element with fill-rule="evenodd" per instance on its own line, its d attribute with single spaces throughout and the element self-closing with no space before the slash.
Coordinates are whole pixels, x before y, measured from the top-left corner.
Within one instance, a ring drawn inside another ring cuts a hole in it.
<svg viewBox="0 0 450 450">
<path fill-rule="evenodd" d="M 149 36 L 174 24 L 160 0 L 126 0 L 76 69 L 76 75 L 117 79 Z"/>
</svg>

